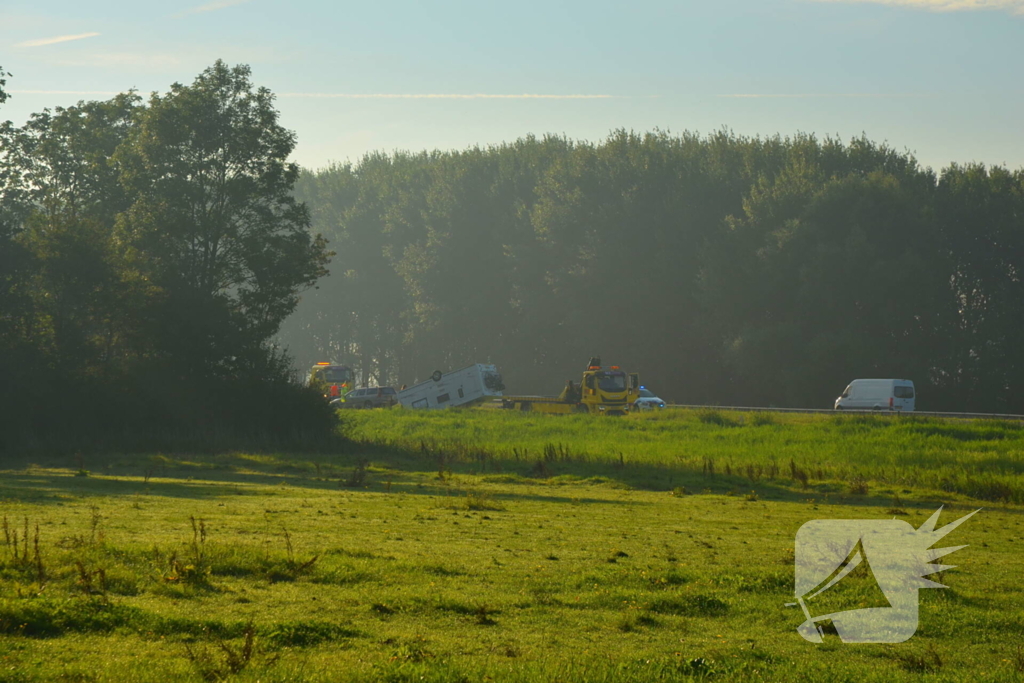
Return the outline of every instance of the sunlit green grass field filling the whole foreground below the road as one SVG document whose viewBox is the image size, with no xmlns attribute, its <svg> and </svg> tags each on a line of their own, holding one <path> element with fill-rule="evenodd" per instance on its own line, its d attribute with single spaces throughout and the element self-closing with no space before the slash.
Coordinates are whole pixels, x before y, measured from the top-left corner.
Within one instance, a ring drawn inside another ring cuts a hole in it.
<svg viewBox="0 0 1024 683">
<path fill-rule="evenodd" d="M 1020 681 L 1024 429 L 343 414 L 317 455 L 7 456 L 3 681 Z M 909 641 L 797 633 L 811 519 L 940 546 Z"/>
</svg>

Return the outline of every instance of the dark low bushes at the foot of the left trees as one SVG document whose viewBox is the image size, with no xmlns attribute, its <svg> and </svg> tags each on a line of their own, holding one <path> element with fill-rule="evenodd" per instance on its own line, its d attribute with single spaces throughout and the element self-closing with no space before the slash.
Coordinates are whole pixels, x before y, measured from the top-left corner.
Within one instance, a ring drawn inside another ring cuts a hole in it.
<svg viewBox="0 0 1024 683">
<path fill-rule="evenodd" d="M 283 370 L 193 376 L 153 364 L 99 378 L 36 367 L 11 379 L 0 412 L 14 428 L 0 433 L 0 452 L 311 445 L 334 438 L 337 426 L 323 396 Z"/>
</svg>

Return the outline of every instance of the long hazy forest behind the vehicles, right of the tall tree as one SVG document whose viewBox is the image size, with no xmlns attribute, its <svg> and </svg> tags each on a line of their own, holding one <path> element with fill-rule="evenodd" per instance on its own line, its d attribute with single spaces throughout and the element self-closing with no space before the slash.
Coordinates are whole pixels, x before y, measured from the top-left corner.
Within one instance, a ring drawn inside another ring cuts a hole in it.
<svg viewBox="0 0 1024 683">
<path fill-rule="evenodd" d="M 412 384 L 494 362 L 555 393 L 591 355 L 678 402 L 1024 413 L 1024 172 L 860 137 L 612 133 L 372 154 L 296 185 L 336 256 L 280 341 Z"/>
</svg>

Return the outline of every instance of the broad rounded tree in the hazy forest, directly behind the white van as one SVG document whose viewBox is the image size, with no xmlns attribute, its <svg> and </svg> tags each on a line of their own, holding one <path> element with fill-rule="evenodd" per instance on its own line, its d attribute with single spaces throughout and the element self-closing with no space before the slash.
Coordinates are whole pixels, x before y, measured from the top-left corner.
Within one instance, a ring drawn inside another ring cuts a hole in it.
<svg viewBox="0 0 1024 683">
<path fill-rule="evenodd" d="M 934 369 L 951 303 L 934 176 L 887 166 L 885 147 L 854 141 L 846 163 L 831 147 L 795 148 L 762 177 L 703 264 L 732 391 L 759 404 L 823 404 L 857 376 L 927 384 Z"/>
</svg>

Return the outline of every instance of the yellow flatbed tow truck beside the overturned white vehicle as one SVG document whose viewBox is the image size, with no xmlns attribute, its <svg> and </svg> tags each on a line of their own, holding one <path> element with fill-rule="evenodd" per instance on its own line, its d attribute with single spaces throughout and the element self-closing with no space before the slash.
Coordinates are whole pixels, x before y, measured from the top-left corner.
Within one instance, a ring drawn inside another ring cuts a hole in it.
<svg viewBox="0 0 1024 683">
<path fill-rule="evenodd" d="M 600 357 L 593 357 L 583 373 L 583 381 L 572 380 L 557 396 L 503 396 L 502 408 L 535 413 L 590 413 L 626 415 L 640 396 L 640 376 L 626 373 L 618 366 L 604 368 Z"/>
</svg>

